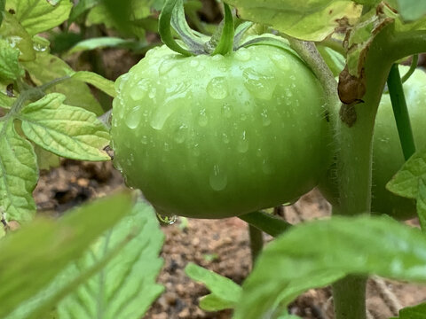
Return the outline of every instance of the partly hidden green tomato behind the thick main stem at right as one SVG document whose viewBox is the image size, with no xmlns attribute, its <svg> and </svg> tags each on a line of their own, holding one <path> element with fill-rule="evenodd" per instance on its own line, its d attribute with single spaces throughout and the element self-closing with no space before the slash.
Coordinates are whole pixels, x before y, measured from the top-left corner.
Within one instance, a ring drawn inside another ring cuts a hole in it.
<svg viewBox="0 0 426 319">
<path fill-rule="evenodd" d="M 408 66 L 399 66 L 405 74 Z M 410 115 L 417 149 L 426 146 L 426 74 L 417 69 L 404 83 L 406 105 Z M 398 220 L 413 218 L 416 214 L 414 200 L 402 198 L 387 191 L 385 186 L 404 164 L 405 159 L 398 137 L 388 93 L 383 94 L 375 119 L 373 140 L 372 202 L 373 214 L 388 214 Z M 334 167 L 319 183 L 319 189 L 332 205 L 337 205 L 337 186 L 333 178 Z"/>
</svg>

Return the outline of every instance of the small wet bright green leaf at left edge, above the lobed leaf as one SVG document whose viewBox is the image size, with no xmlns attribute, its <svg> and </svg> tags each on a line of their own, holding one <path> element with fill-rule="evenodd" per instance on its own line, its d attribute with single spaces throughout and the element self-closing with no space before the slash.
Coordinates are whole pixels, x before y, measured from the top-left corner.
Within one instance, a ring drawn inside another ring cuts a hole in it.
<svg viewBox="0 0 426 319">
<path fill-rule="evenodd" d="M 10 43 L 0 38 L 0 78 L 17 80 L 24 74 L 18 61 L 19 57 L 20 51 L 12 48 Z"/>
</svg>

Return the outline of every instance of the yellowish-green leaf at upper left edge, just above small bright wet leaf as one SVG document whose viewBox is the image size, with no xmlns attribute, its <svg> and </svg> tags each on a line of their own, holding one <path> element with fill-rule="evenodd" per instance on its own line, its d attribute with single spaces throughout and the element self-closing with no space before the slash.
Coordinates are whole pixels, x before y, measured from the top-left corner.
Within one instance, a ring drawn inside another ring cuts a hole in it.
<svg viewBox="0 0 426 319">
<path fill-rule="evenodd" d="M 4 12 L 0 35 L 3 35 L 4 39 L 20 50 L 20 61 L 31 61 L 36 58 L 31 35 L 20 25 L 13 14 Z"/>
</svg>

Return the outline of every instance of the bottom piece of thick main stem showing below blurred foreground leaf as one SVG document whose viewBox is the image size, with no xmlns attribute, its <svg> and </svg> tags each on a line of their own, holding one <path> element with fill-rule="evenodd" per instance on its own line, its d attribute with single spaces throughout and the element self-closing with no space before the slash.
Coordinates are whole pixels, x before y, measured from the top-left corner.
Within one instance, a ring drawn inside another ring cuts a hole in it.
<svg viewBox="0 0 426 319">
<path fill-rule="evenodd" d="M 366 319 L 367 276 L 346 276 L 333 284 L 335 318 Z"/>
</svg>

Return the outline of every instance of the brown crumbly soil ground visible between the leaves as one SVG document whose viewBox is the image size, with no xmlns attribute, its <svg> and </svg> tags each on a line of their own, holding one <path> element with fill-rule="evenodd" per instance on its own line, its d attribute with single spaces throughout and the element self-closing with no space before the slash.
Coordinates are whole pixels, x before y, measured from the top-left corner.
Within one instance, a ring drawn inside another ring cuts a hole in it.
<svg viewBox="0 0 426 319">
<path fill-rule="evenodd" d="M 34 192 L 43 214 L 59 215 L 90 198 L 106 196 L 124 187 L 121 175 L 111 163 L 65 160 L 62 166 L 44 172 Z M 312 191 L 294 206 L 284 207 L 284 218 L 291 223 L 327 216 L 330 207 L 318 191 Z M 185 276 L 189 261 L 216 271 L 241 284 L 251 268 L 248 226 L 238 218 L 224 220 L 178 219 L 162 228 L 166 235 L 162 249 L 164 267 L 159 282 L 166 287 L 144 319 L 227 319 L 230 311 L 206 313 L 197 305 L 208 293 L 201 284 Z M 271 237 L 264 237 L 270 241 Z M 367 305 L 374 319 L 396 315 L 398 307 L 426 300 L 426 286 L 370 279 Z M 310 290 L 295 300 L 289 312 L 306 319 L 332 319 L 333 300 L 329 287 Z"/>
</svg>

